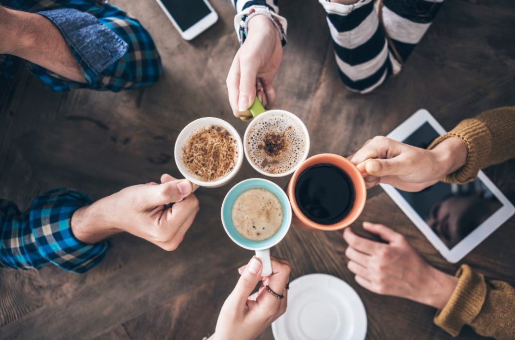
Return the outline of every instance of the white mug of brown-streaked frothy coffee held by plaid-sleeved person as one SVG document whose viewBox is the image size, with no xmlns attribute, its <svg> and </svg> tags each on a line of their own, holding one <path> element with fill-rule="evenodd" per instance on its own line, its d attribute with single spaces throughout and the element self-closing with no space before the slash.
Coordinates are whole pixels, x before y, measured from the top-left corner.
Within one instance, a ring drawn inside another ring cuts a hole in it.
<svg viewBox="0 0 515 340">
<path fill-rule="evenodd" d="M 220 118 L 191 122 L 177 137 L 174 156 L 184 176 L 199 186 L 217 188 L 229 182 L 243 164 L 243 144 L 236 129 Z"/>
</svg>

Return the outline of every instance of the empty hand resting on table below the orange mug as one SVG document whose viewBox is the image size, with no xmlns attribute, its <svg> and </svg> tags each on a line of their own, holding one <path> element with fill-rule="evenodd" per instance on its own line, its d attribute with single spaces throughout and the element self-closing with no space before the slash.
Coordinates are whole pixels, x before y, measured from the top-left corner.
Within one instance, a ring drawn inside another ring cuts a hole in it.
<svg viewBox="0 0 515 340">
<path fill-rule="evenodd" d="M 344 231 L 349 244 L 347 268 L 356 282 L 369 291 L 410 299 L 441 309 L 449 301 L 458 279 L 427 264 L 404 236 L 380 224 L 363 223 L 363 228 L 387 243 Z"/>
</svg>

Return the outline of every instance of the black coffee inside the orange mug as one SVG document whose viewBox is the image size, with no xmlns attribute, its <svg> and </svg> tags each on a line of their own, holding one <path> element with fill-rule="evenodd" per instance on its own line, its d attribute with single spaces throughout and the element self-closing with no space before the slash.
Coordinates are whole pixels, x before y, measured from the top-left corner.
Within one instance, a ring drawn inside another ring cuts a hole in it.
<svg viewBox="0 0 515 340">
<path fill-rule="evenodd" d="M 307 218 L 330 225 L 349 214 L 356 191 L 349 176 L 339 167 L 315 164 L 299 175 L 295 183 L 295 198 Z"/>
</svg>

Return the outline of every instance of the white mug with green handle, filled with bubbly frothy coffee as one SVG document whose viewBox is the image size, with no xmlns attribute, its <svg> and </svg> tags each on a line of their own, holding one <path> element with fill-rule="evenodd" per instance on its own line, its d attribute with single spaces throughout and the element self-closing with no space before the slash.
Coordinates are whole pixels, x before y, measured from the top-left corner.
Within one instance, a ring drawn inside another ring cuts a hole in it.
<svg viewBox="0 0 515 340">
<path fill-rule="evenodd" d="M 306 126 L 291 112 L 265 111 L 257 97 L 250 110 L 254 119 L 243 138 L 248 162 L 266 176 L 292 174 L 310 151 L 310 135 Z"/>
</svg>

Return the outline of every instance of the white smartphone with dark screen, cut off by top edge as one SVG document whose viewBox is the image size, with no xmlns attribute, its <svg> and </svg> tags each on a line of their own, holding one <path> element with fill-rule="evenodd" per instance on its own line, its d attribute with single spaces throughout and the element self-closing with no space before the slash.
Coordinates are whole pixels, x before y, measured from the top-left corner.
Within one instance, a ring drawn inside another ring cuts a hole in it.
<svg viewBox="0 0 515 340">
<path fill-rule="evenodd" d="M 184 40 L 192 40 L 218 20 L 207 0 L 156 0 Z"/>
</svg>

